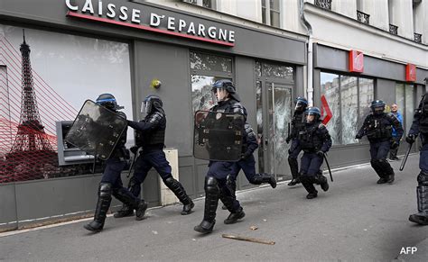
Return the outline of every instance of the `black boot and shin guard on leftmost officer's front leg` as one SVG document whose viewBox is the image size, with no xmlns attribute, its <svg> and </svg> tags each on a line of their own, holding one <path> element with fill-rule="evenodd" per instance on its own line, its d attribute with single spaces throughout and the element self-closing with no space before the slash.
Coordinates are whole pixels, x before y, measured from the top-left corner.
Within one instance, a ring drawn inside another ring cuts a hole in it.
<svg viewBox="0 0 428 262">
<path fill-rule="evenodd" d="M 98 203 L 95 209 L 94 221 L 84 225 L 86 230 L 99 232 L 104 228 L 107 211 L 111 203 L 111 184 L 100 183 L 98 186 Z"/>
</svg>

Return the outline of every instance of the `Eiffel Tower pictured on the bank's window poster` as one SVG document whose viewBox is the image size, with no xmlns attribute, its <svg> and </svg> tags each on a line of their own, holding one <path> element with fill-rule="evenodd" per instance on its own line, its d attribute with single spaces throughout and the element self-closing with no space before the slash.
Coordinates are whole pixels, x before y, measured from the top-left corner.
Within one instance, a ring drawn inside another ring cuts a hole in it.
<svg viewBox="0 0 428 262">
<path fill-rule="evenodd" d="M 33 73 L 30 61 L 30 46 L 21 44 L 22 55 L 22 101 L 21 116 L 17 127 L 14 145 L 6 155 L 10 181 L 23 181 L 43 178 L 46 168 L 57 163 L 57 153 L 52 148 L 44 131 L 33 87 Z M 49 164 L 49 165 L 48 165 Z M 48 167 L 46 167 L 48 165 Z"/>
</svg>

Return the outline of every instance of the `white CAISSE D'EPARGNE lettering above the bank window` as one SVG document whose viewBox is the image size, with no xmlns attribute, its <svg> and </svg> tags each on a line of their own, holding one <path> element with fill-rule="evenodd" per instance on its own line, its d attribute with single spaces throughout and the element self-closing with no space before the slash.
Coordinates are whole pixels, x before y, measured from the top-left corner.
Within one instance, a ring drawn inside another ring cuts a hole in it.
<svg viewBox="0 0 428 262">
<path fill-rule="evenodd" d="M 86 18 L 89 20 L 96 20 L 105 23 L 109 23 L 107 19 L 116 20 L 116 24 L 135 27 L 130 25 L 131 23 L 141 24 L 142 19 L 145 21 L 145 25 L 150 25 L 152 28 L 159 28 L 155 32 L 163 32 L 172 34 L 175 36 L 182 36 L 196 39 L 200 41 L 210 41 L 228 46 L 233 46 L 235 43 L 235 32 L 224 28 L 218 28 L 217 26 L 209 25 L 206 26 L 203 23 L 195 23 L 192 21 L 186 21 L 184 19 L 177 19 L 173 16 L 166 16 L 162 14 L 144 14 L 140 9 L 131 8 L 126 5 L 115 5 L 112 3 L 106 3 L 106 0 L 64 0 L 65 5 L 69 9 L 70 16 L 79 18 Z M 103 3 L 104 1 L 104 3 Z M 79 14 L 81 13 L 81 14 Z M 97 13 L 100 18 L 93 18 L 93 14 Z M 85 15 L 82 15 L 85 14 Z M 103 18 L 103 16 L 105 18 Z M 107 19 L 106 19 L 107 18 Z M 119 23 L 120 22 L 120 23 Z M 131 22 L 131 23 L 129 23 Z M 129 24 L 126 24 L 129 23 Z M 141 25 L 142 29 L 147 27 L 144 24 Z M 166 30 L 163 30 L 166 29 Z M 154 31 L 152 29 L 146 29 Z M 169 31 L 169 32 L 168 32 Z"/>
</svg>

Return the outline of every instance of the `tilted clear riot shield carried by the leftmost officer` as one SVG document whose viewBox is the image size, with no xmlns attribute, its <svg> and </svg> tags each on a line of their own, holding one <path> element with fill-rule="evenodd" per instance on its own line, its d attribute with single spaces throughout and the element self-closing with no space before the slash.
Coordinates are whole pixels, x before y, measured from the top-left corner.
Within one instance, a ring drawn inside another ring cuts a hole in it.
<svg viewBox="0 0 428 262">
<path fill-rule="evenodd" d="M 107 160 L 126 129 L 126 125 L 125 118 L 87 100 L 65 140 L 90 155 Z"/>
</svg>

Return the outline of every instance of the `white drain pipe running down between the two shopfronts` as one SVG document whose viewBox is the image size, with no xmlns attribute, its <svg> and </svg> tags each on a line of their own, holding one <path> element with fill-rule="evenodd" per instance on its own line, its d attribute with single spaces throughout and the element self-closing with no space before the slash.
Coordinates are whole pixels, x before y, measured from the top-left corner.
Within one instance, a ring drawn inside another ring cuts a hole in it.
<svg viewBox="0 0 428 262">
<path fill-rule="evenodd" d="M 300 0 L 300 19 L 308 32 L 309 39 L 307 41 L 308 47 L 308 66 L 307 66 L 307 98 L 309 105 L 313 105 L 313 53 L 312 53 L 312 25 L 304 17 L 304 0 Z"/>
</svg>

